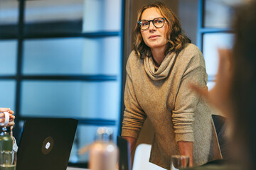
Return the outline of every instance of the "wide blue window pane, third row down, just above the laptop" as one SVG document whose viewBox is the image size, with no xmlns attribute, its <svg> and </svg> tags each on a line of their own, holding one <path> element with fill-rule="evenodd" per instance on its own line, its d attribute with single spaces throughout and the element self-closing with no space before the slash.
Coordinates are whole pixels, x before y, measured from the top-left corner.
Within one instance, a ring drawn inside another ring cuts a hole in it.
<svg viewBox="0 0 256 170">
<path fill-rule="evenodd" d="M 23 81 L 22 116 L 119 118 L 117 82 Z"/>
</svg>

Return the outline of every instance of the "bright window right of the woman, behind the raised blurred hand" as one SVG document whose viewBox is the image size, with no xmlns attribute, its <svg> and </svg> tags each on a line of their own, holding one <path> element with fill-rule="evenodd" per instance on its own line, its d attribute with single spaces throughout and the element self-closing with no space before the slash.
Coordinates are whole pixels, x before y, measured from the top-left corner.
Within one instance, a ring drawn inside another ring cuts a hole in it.
<svg viewBox="0 0 256 170">
<path fill-rule="evenodd" d="M 239 0 L 198 1 L 197 46 L 206 60 L 208 89 L 213 88 L 215 74 L 218 72 L 218 48 L 233 47 L 232 16 L 234 6 L 238 3 Z"/>
</svg>

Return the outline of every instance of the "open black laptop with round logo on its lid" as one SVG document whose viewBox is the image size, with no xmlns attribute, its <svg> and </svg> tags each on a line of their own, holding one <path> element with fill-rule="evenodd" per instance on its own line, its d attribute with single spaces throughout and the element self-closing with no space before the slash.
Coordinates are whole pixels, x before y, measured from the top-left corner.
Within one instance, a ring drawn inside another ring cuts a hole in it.
<svg viewBox="0 0 256 170">
<path fill-rule="evenodd" d="M 23 126 L 16 170 L 66 170 L 78 120 L 36 118 Z"/>
</svg>

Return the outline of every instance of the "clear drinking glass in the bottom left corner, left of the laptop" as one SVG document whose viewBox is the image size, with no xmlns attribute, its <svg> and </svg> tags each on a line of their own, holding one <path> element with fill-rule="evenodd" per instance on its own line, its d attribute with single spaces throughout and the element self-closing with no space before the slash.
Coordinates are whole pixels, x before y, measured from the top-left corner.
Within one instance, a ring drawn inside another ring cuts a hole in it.
<svg viewBox="0 0 256 170">
<path fill-rule="evenodd" d="M 17 153 L 14 151 L 0 152 L 0 170 L 15 170 Z"/>
</svg>

